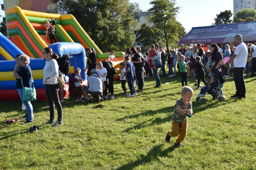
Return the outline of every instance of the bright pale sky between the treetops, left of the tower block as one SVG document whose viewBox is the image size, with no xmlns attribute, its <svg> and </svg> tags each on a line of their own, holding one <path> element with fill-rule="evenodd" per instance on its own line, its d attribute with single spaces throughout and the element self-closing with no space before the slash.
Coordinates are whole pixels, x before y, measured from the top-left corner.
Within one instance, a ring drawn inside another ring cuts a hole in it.
<svg viewBox="0 0 256 170">
<path fill-rule="evenodd" d="M 139 3 L 142 11 L 151 8 L 150 0 L 130 0 L 130 2 Z M 189 32 L 192 27 L 211 25 L 214 23 L 216 14 L 221 11 L 231 10 L 233 13 L 233 0 L 215 0 L 214 3 L 211 1 L 176 0 L 176 6 L 181 7 L 176 20 L 183 25 L 186 32 Z"/>
</svg>

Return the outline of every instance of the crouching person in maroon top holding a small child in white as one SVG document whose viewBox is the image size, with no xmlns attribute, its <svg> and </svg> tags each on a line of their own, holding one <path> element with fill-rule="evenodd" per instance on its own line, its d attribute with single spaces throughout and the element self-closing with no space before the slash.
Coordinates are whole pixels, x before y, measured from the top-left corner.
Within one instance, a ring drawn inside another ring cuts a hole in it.
<svg viewBox="0 0 256 170">
<path fill-rule="evenodd" d="M 72 96 L 73 99 L 81 99 L 83 96 L 82 86 L 75 86 L 75 82 L 79 81 L 83 81 L 83 79 L 75 79 L 75 73 L 72 73 L 69 76 L 69 94 Z"/>
</svg>

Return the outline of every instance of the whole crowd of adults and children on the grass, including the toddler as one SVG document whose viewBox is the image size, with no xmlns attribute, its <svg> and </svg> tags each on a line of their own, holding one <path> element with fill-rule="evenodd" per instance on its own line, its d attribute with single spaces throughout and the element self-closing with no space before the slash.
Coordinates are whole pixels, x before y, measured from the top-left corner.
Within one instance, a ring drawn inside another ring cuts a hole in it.
<svg viewBox="0 0 256 170">
<path fill-rule="evenodd" d="M 248 50 L 249 47 L 249 50 Z M 167 57 L 167 68 L 169 77 L 176 76 L 177 72 L 180 71 L 181 75 L 181 98 L 176 101 L 175 111 L 172 116 L 172 127 L 171 131 L 167 132 L 165 140 L 170 141 L 171 137 L 177 137 L 174 146 L 183 147 L 181 142 L 185 139 L 187 135 L 187 117 L 192 116 L 192 103 L 191 98 L 194 94 L 193 89 L 187 84 L 187 77 L 197 78 L 197 88 L 200 88 L 200 80 L 203 81 L 205 86 L 201 88 L 199 93 L 200 97 L 205 94 L 208 86 L 217 78 L 214 71 L 219 68 L 220 64 L 227 66 L 230 69 L 231 62 L 234 65 L 234 82 L 236 86 L 236 93 L 231 96 L 231 98 L 246 98 L 246 88 L 244 82 L 244 70 L 246 67 L 246 62 L 251 61 L 251 75 L 255 75 L 256 67 L 253 58 L 256 58 L 256 46 L 253 44 L 246 44 L 242 41 L 242 36 L 237 35 L 234 37 L 234 41 L 225 45 L 225 51 L 222 53 L 217 44 L 211 44 L 209 46 L 209 52 L 205 53 L 201 44 L 197 44 L 197 50 L 188 48 L 188 51 L 181 44 L 181 48 L 178 50 L 177 54 L 175 50 L 172 53 L 166 54 L 164 48 L 159 47 L 158 44 L 152 44 L 150 46 L 149 52 L 145 52 L 144 55 L 141 53 L 140 47 L 128 48 L 123 62 L 120 63 L 120 80 L 121 86 L 124 91 L 123 96 L 134 97 L 137 93 L 143 92 L 144 77 L 151 78 L 154 76 L 156 85 L 154 88 L 161 87 L 161 81 L 159 78 L 159 69 L 162 72 L 162 76 L 166 76 L 165 64 Z M 230 50 L 234 53 L 231 54 Z M 103 60 L 102 62 L 97 62 L 96 53 L 93 49 L 87 48 L 88 62 L 86 66 L 87 75 L 87 85 L 82 85 L 83 79 L 81 78 L 81 69 L 75 69 L 74 73 L 69 76 L 69 98 L 78 99 L 78 101 L 87 100 L 91 102 L 89 94 L 94 98 L 94 101 L 100 102 L 108 99 L 108 93 L 111 94 L 110 98 L 114 99 L 114 67 L 111 61 L 116 58 L 114 52 L 111 52 L 108 61 Z M 249 53 L 248 53 L 249 52 Z M 247 57 L 247 53 L 249 57 Z M 43 69 L 44 79 L 43 84 L 45 85 L 46 98 L 49 104 L 50 118 L 46 124 L 53 124 L 52 126 L 59 126 L 63 124 L 62 121 L 62 105 L 63 96 L 59 99 L 58 90 L 58 70 L 66 75 L 69 71 L 69 55 L 58 56 L 54 54 L 52 49 L 47 47 L 44 48 L 42 53 L 45 61 L 45 67 Z M 247 58 L 248 61 L 247 61 Z M 13 71 L 13 76 L 16 77 L 16 89 L 22 100 L 22 86 L 32 87 L 33 79 L 31 74 L 31 69 L 29 66 L 30 60 L 26 55 L 16 56 L 16 65 Z M 160 61 L 161 60 L 161 61 Z M 159 62 L 162 64 L 159 64 Z M 249 65 L 249 64 L 248 64 Z M 177 68 L 176 68 L 177 67 Z M 249 66 L 247 66 L 249 67 Z M 145 69 L 145 76 L 144 76 Z M 207 71 L 210 81 L 205 80 L 205 71 Z M 191 73 L 191 75 L 189 75 Z M 228 71 L 227 71 L 228 73 Z M 230 72 L 229 72 L 230 74 Z M 248 72 L 249 74 L 249 72 Z M 229 76 L 229 75 L 227 75 Z M 134 82 L 137 80 L 137 91 L 135 91 Z M 21 85 L 21 81 L 23 85 Z M 128 82 L 128 87 L 130 94 L 128 94 L 126 89 L 126 82 Z M 222 96 L 224 96 L 223 91 L 220 90 Z M 22 103 L 26 106 L 27 114 L 24 119 L 27 123 L 33 123 L 33 107 L 30 101 L 23 101 Z M 55 122 L 55 106 L 57 107 L 58 118 Z"/>
</svg>

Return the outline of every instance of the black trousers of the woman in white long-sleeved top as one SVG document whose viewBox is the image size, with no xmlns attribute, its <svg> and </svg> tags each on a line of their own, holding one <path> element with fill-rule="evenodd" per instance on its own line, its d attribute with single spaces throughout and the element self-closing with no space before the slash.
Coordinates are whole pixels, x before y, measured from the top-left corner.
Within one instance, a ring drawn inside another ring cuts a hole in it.
<svg viewBox="0 0 256 170">
<path fill-rule="evenodd" d="M 55 107 L 57 107 L 58 112 L 58 121 L 62 121 L 62 106 L 59 100 L 59 85 L 47 85 L 45 84 L 45 95 L 49 104 L 50 119 L 54 120 L 55 118 Z"/>
</svg>

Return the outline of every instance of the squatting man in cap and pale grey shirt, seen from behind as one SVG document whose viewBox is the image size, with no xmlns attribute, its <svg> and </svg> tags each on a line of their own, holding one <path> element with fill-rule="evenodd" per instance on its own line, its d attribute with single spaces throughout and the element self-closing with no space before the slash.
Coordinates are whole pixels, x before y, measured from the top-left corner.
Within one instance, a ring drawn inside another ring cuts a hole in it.
<svg viewBox="0 0 256 170">
<path fill-rule="evenodd" d="M 101 76 L 97 75 L 97 70 L 90 70 L 91 76 L 87 78 L 87 86 L 83 86 L 83 94 L 86 96 L 88 102 L 90 102 L 89 94 L 94 98 L 95 102 L 104 100 L 103 90 L 105 90 L 104 82 Z"/>
</svg>

